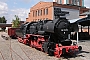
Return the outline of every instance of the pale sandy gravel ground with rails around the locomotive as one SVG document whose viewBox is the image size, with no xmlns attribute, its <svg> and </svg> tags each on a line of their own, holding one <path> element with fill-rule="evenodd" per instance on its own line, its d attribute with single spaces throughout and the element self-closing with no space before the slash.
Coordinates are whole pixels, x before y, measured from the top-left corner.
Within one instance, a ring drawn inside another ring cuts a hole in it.
<svg viewBox="0 0 90 60">
<path fill-rule="evenodd" d="M 5 40 L 0 32 L 0 60 L 90 60 L 90 41 L 80 41 L 83 50 L 77 57 L 56 58 L 19 43 L 17 39 Z"/>
</svg>

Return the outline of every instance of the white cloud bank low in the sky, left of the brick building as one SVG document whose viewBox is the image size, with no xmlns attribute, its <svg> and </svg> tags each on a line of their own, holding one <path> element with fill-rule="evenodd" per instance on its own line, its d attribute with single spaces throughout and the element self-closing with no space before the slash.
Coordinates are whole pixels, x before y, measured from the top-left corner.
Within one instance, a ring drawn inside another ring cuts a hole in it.
<svg viewBox="0 0 90 60">
<path fill-rule="evenodd" d="M 9 9 L 6 3 L 0 2 L 0 17 L 5 16 L 7 23 L 11 23 L 15 15 L 18 15 L 21 21 L 26 21 L 28 13 L 29 9 L 25 8 Z"/>
</svg>

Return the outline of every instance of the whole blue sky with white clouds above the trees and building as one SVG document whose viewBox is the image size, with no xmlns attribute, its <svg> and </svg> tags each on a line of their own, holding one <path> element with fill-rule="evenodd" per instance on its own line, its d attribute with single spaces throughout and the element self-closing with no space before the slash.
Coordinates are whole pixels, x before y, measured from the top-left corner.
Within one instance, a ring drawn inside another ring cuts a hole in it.
<svg viewBox="0 0 90 60">
<path fill-rule="evenodd" d="M 30 7 L 37 4 L 39 1 L 53 0 L 0 0 L 0 17 L 5 16 L 7 23 L 11 23 L 14 15 L 18 15 L 22 21 L 28 17 Z M 85 6 L 90 8 L 89 0 L 85 0 Z"/>
</svg>

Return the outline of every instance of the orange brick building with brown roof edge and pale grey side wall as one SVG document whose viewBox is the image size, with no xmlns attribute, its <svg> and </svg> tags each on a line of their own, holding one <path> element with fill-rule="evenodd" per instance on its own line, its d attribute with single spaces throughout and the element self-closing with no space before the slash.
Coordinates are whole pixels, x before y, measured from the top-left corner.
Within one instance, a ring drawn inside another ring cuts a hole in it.
<svg viewBox="0 0 90 60">
<path fill-rule="evenodd" d="M 77 5 L 58 4 L 57 2 L 39 2 L 30 9 L 26 22 L 38 21 L 38 20 L 53 20 L 56 19 L 55 8 L 59 8 L 61 11 L 69 12 L 66 15 L 67 19 L 79 18 L 79 14 L 88 11 L 85 7 Z"/>
</svg>

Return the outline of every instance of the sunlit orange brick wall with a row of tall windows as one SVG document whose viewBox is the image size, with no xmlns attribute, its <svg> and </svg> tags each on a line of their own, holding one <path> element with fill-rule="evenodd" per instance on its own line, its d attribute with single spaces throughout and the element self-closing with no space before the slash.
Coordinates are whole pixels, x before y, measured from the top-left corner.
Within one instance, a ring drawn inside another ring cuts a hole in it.
<svg viewBox="0 0 90 60">
<path fill-rule="evenodd" d="M 53 3 L 52 2 L 39 2 L 30 9 L 27 22 L 53 19 Z"/>
</svg>

